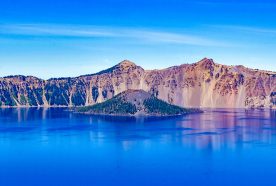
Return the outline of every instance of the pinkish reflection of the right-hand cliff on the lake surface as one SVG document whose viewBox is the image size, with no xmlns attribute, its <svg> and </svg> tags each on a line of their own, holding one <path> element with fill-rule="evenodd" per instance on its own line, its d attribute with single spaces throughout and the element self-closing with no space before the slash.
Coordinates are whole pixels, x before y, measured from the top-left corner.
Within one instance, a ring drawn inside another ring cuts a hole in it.
<svg viewBox="0 0 276 186">
<path fill-rule="evenodd" d="M 181 123 L 194 130 L 183 133 L 183 144 L 199 149 L 219 150 L 261 145 L 274 140 L 275 110 L 213 111 Z M 258 141 L 258 144 L 254 142 Z"/>
</svg>

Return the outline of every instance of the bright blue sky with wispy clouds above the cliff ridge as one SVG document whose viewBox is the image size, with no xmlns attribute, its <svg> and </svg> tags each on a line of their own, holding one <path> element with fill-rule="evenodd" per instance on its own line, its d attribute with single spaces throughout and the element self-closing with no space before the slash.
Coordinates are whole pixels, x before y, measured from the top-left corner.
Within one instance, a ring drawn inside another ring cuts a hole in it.
<svg viewBox="0 0 276 186">
<path fill-rule="evenodd" d="M 0 77 L 74 77 L 128 59 L 276 71 L 275 0 L 3 0 Z"/>
</svg>

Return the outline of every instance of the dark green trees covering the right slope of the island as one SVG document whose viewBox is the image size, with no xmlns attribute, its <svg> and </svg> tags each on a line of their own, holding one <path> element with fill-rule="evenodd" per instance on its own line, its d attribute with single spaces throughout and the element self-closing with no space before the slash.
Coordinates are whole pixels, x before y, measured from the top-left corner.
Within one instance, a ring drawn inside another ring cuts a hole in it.
<svg viewBox="0 0 276 186">
<path fill-rule="evenodd" d="M 179 115 L 189 113 L 188 109 L 168 104 L 165 101 L 162 101 L 155 97 L 146 99 L 144 101 L 144 106 L 149 114 Z"/>
</svg>

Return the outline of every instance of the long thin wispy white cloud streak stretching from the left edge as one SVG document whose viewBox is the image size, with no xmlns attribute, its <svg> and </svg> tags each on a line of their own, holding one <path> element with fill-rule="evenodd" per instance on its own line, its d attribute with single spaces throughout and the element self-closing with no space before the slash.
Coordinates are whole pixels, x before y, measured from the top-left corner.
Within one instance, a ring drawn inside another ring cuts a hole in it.
<svg viewBox="0 0 276 186">
<path fill-rule="evenodd" d="M 0 35 L 41 37 L 127 38 L 148 43 L 169 43 L 196 46 L 230 46 L 224 42 L 185 33 L 165 32 L 144 28 L 119 28 L 70 25 L 0 25 Z"/>
</svg>

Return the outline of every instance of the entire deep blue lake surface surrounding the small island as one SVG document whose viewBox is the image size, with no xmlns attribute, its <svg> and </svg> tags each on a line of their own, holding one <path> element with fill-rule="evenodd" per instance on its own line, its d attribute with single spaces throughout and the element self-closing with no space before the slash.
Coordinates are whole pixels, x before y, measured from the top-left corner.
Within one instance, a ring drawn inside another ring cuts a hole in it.
<svg viewBox="0 0 276 186">
<path fill-rule="evenodd" d="M 112 118 L 0 109 L 0 185 L 276 185 L 276 112 Z"/>
</svg>

